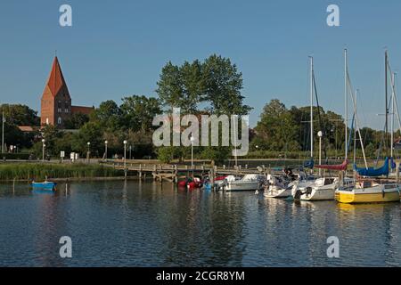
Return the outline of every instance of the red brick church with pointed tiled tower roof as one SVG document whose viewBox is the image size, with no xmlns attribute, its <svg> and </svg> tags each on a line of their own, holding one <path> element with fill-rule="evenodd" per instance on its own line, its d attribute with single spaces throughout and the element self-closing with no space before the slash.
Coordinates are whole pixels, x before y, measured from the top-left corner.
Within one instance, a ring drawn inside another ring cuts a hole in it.
<svg viewBox="0 0 401 285">
<path fill-rule="evenodd" d="M 42 94 L 40 108 L 40 125 L 53 125 L 59 129 L 64 128 L 64 122 L 75 113 L 89 115 L 94 107 L 73 106 L 69 88 L 62 76 L 60 62 L 54 57 L 45 91 Z"/>
</svg>

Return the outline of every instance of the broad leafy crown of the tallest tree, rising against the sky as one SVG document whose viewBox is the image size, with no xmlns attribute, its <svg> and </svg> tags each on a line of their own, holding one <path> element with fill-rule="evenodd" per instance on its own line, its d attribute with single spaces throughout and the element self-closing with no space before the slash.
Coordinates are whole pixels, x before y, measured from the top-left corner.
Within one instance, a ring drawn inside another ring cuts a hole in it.
<svg viewBox="0 0 401 285">
<path fill-rule="evenodd" d="M 168 62 L 161 70 L 158 89 L 160 101 L 183 113 L 199 113 L 200 104 L 209 105 L 214 114 L 248 114 L 243 104 L 242 74 L 229 59 L 216 54 L 203 62 L 187 62 L 182 66 Z"/>
</svg>

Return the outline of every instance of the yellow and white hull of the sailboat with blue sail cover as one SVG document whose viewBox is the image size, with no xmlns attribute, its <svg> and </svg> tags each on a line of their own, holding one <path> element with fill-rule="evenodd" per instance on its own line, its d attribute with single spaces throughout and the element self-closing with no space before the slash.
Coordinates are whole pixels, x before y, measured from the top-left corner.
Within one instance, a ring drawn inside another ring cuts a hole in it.
<svg viewBox="0 0 401 285">
<path fill-rule="evenodd" d="M 340 203 L 385 203 L 399 202 L 400 196 L 397 188 L 382 191 L 381 189 L 366 189 L 352 191 L 336 191 L 335 198 Z"/>
</svg>

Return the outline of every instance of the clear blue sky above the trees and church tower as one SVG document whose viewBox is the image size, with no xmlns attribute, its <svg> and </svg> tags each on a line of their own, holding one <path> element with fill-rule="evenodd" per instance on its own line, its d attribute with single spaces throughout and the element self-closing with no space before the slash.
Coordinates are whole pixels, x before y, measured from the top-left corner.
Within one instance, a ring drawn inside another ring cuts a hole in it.
<svg viewBox="0 0 401 285">
<path fill-rule="evenodd" d="M 59 24 L 61 4 L 72 8 L 72 27 Z M 340 27 L 326 23 L 329 4 L 340 7 Z M 217 53 L 242 72 L 255 126 L 271 99 L 289 108 L 309 104 L 313 55 L 320 105 L 343 115 L 347 47 L 349 73 L 360 90 L 360 125 L 382 129 L 384 50 L 399 70 L 400 28 L 398 0 L 1 0 L 0 103 L 40 110 L 55 51 L 72 103 L 87 106 L 156 96 L 168 61 Z"/>
</svg>

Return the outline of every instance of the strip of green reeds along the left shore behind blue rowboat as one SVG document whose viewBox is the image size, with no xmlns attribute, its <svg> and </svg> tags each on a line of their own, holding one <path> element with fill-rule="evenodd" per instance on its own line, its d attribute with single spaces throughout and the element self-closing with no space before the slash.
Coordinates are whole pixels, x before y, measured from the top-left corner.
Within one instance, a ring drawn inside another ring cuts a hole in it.
<svg viewBox="0 0 401 285">
<path fill-rule="evenodd" d="M 49 178 L 92 178 L 116 177 L 124 175 L 122 171 L 102 165 L 87 164 L 41 164 L 9 163 L 0 164 L 0 180 L 42 180 Z"/>
</svg>

